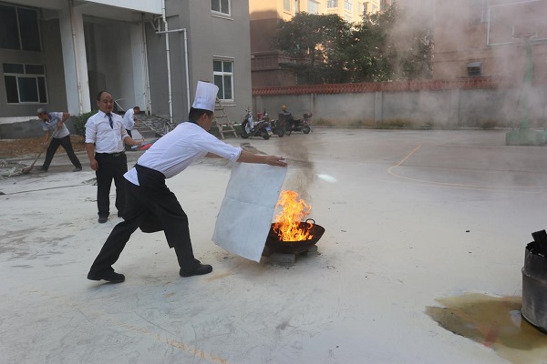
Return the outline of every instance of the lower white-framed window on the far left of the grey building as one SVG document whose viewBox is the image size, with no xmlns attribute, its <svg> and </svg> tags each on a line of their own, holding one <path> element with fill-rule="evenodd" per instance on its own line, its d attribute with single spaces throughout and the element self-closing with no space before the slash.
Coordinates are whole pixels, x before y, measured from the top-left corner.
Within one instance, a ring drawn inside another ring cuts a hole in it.
<svg viewBox="0 0 547 364">
<path fill-rule="evenodd" d="M 42 65 L 2 64 L 8 104 L 46 104 L 46 67 Z"/>
</svg>

